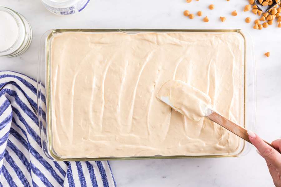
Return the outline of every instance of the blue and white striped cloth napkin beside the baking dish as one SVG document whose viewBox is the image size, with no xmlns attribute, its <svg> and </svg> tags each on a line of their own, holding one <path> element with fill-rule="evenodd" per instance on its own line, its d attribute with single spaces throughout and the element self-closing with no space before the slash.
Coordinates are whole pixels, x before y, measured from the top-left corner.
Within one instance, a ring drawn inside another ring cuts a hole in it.
<svg viewBox="0 0 281 187">
<path fill-rule="evenodd" d="M 56 162 L 42 151 L 37 82 L 0 71 L 0 186 L 116 186 L 108 161 Z"/>
</svg>

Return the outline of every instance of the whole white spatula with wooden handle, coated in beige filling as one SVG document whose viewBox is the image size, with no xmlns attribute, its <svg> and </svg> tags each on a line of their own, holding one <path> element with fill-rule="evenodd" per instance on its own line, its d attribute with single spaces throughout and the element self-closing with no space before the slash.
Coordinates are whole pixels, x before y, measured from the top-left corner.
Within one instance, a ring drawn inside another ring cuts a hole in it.
<svg viewBox="0 0 281 187">
<path fill-rule="evenodd" d="M 200 119 L 200 117 L 207 117 L 211 121 L 251 143 L 247 130 L 244 127 L 235 124 L 215 112 L 212 109 L 211 99 L 207 94 L 195 89 L 183 81 L 168 81 L 159 90 L 157 98 L 190 119 L 194 120 Z M 276 149 L 267 141 L 264 142 Z M 278 149 L 276 150 L 280 152 Z"/>
</svg>

